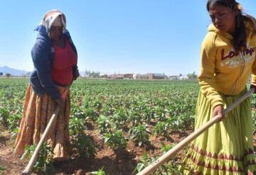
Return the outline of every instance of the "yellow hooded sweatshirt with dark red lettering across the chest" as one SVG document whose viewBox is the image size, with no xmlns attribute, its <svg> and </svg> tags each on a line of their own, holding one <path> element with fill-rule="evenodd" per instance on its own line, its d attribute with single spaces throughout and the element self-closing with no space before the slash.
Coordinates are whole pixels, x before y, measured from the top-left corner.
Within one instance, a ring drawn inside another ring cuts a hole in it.
<svg viewBox="0 0 256 175">
<path fill-rule="evenodd" d="M 201 74 L 198 77 L 203 95 L 213 108 L 223 105 L 220 94 L 235 96 L 245 89 L 252 73 L 256 83 L 256 29 L 246 22 L 247 48 L 235 52 L 233 36 L 222 33 L 211 24 L 201 47 Z"/>
</svg>

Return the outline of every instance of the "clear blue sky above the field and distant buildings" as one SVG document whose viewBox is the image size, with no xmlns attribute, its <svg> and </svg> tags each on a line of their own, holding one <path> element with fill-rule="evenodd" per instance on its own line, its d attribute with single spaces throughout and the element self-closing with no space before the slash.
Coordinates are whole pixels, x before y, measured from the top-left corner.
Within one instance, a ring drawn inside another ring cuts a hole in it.
<svg viewBox="0 0 256 175">
<path fill-rule="evenodd" d="M 255 0 L 239 2 L 256 16 Z M 210 24 L 206 0 L 3 0 L 0 67 L 33 69 L 33 29 L 50 9 L 65 13 L 80 71 L 199 72 L 201 42 Z"/>
</svg>

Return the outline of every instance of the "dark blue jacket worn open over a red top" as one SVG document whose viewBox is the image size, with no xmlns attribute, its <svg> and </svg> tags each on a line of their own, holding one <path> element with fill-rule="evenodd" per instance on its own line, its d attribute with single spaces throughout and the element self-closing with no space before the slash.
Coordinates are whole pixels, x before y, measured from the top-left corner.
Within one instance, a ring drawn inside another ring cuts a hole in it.
<svg viewBox="0 0 256 175">
<path fill-rule="evenodd" d="M 36 43 L 33 45 L 31 50 L 31 56 L 35 68 L 31 73 L 30 84 L 33 91 L 38 94 L 43 95 L 44 93 L 48 93 L 54 99 L 60 98 L 60 92 L 58 91 L 56 84 L 51 78 L 51 69 L 53 67 L 54 59 L 54 47 L 50 42 L 50 38 L 48 37 L 46 28 L 44 26 L 40 25 L 35 30 L 38 31 L 38 36 L 36 38 Z M 78 55 L 68 30 L 65 30 L 63 34 L 66 38 L 68 38 L 75 54 Z M 73 67 L 73 70 L 74 69 L 78 69 L 78 66 L 75 65 L 75 67 Z"/>
</svg>

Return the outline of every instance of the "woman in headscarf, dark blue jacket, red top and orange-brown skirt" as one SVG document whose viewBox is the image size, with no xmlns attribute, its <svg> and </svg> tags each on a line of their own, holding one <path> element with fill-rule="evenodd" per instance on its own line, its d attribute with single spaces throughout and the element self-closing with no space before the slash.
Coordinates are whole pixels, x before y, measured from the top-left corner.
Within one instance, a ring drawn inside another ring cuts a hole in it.
<svg viewBox="0 0 256 175">
<path fill-rule="evenodd" d="M 31 50 L 34 70 L 26 91 L 23 118 L 15 142 L 15 153 L 23 154 L 26 145 L 37 144 L 58 106 L 60 112 L 46 139 L 53 147 L 55 161 L 68 159 L 70 94 L 65 94 L 79 77 L 78 54 L 66 30 L 65 15 L 48 11 L 36 28 L 38 36 Z"/>
</svg>

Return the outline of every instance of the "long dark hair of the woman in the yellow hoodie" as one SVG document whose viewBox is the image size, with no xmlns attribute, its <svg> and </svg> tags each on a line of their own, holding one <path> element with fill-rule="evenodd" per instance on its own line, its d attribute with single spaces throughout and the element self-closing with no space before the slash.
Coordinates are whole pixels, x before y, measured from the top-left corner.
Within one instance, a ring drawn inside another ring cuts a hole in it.
<svg viewBox="0 0 256 175">
<path fill-rule="evenodd" d="M 208 0 L 206 4 L 207 11 L 210 6 L 227 6 L 232 11 L 238 11 L 238 16 L 235 18 L 235 33 L 233 34 L 233 47 L 236 51 L 241 50 L 242 47 L 246 47 L 247 33 L 245 28 L 245 20 L 248 20 L 249 16 L 242 14 L 242 9 L 238 8 L 240 4 L 235 0 Z"/>
</svg>

